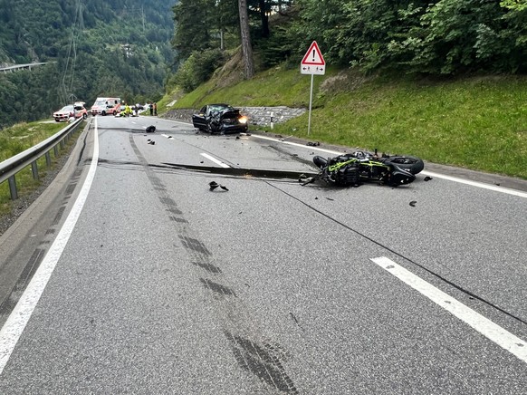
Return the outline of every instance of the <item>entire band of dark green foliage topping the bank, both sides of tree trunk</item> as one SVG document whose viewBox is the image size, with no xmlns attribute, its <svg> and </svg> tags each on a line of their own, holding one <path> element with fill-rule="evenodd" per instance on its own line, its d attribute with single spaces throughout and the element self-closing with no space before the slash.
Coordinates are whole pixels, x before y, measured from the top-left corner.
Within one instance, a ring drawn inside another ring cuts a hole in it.
<svg viewBox="0 0 527 395">
<path fill-rule="evenodd" d="M 233 0 L 182 1 L 176 6 L 174 45 L 181 59 L 217 48 L 220 31 L 236 21 Z M 295 0 L 250 2 L 260 70 L 297 67 L 316 40 L 328 64 L 363 72 L 396 70 L 429 75 L 527 72 L 527 5 L 523 0 Z M 215 10 L 215 5 L 217 10 Z M 262 11 L 273 11 L 262 17 Z M 201 13 L 201 14 L 200 14 Z M 203 23 L 203 21 L 208 21 Z M 239 41 L 235 41 L 237 45 Z M 228 48 L 228 47 L 227 47 Z M 192 86 L 192 85 L 189 85 Z"/>
</svg>

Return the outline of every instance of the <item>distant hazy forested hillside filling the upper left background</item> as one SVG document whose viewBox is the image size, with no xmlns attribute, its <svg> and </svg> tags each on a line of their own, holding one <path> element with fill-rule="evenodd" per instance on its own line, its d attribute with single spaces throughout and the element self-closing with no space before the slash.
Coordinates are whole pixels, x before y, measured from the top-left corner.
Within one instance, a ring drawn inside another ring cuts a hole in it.
<svg viewBox="0 0 527 395">
<path fill-rule="evenodd" d="M 177 0 L 0 0 L 0 127 L 38 120 L 102 94 L 158 100 L 174 62 Z"/>
</svg>

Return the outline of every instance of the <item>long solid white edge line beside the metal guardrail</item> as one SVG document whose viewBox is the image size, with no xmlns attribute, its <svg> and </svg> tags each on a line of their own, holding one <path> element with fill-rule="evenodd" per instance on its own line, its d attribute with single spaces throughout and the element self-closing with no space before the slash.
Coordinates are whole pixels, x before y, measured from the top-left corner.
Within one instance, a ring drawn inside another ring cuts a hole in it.
<svg viewBox="0 0 527 395">
<path fill-rule="evenodd" d="M 25 288 L 24 294 L 22 294 L 18 303 L 14 306 L 13 312 L 11 312 L 0 330 L 0 374 L 4 371 L 5 365 L 9 361 L 9 357 L 14 351 L 16 343 L 20 339 L 22 332 L 24 332 L 25 325 L 29 322 L 36 303 L 38 303 L 42 296 L 43 290 L 53 274 L 53 270 L 70 236 L 72 236 L 73 228 L 81 215 L 82 207 L 84 207 L 84 203 L 90 192 L 91 183 L 95 177 L 95 170 L 97 169 L 97 162 L 99 160 L 99 137 L 97 134 L 97 118 L 95 118 L 93 158 L 91 159 L 91 166 L 79 197 L 75 200 L 72 211 L 66 218 L 64 225 L 62 225 L 60 232 L 53 241 L 47 254 L 43 257 L 43 261 L 34 273 L 31 282 Z"/>
</svg>

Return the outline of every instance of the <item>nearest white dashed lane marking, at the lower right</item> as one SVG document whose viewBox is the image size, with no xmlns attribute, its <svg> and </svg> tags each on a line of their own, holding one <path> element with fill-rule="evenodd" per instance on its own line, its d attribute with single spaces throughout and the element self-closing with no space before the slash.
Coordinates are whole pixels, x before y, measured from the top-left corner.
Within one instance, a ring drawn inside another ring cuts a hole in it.
<svg viewBox="0 0 527 395">
<path fill-rule="evenodd" d="M 425 295 L 432 302 L 443 307 L 447 312 L 454 314 L 455 317 L 470 325 L 474 330 L 480 332 L 504 350 L 511 352 L 518 359 L 527 363 L 527 342 L 524 342 L 519 337 L 513 335 L 513 333 L 493 323 L 480 313 L 474 312 L 474 310 L 464 303 L 457 301 L 449 294 L 444 293 L 434 285 L 427 283 L 422 278 L 407 271 L 407 269 L 396 264 L 386 256 L 372 258 L 371 261 L 385 269 L 391 275 L 396 276 L 403 283 L 408 284 L 419 293 Z"/>
</svg>

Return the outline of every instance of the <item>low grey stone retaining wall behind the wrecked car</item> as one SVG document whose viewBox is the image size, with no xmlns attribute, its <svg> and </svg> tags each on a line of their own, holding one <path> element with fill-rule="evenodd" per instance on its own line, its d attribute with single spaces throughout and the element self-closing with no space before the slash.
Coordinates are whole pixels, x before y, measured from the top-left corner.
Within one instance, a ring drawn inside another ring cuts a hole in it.
<svg viewBox="0 0 527 395">
<path fill-rule="evenodd" d="M 250 125 L 269 126 L 271 122 L 280 123 L 286 120 L 302 115 L 306 109 L 292 109 L 285 106 L 277 107 L 237 107 L 240 111 L 249 117 Z M 168 120 L 183 120 L 192 122 L 192 114 L 197 110 L 193 109 L 177 109 L 169 110 L 163 114 L 162 117 Z"/>
</svg>

